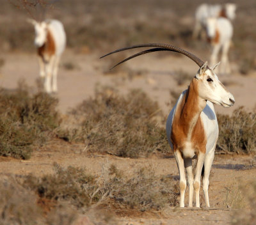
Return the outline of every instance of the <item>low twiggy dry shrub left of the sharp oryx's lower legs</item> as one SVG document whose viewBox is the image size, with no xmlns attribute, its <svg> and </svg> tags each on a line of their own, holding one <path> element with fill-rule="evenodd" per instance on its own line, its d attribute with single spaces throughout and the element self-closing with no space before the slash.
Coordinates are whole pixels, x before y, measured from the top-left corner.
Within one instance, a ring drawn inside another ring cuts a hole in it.
<svg viewBox="0 0 256 225">
<path fill-rule="evenodd" d="M 55 164 L 56 173 L 42 178 L 28 176 L 23 185 L 35 190 L 40 198 L 84 208 L 112 200 L 120 206 L 138 208 L 141 211 L 159 210 L 175 205 L 179 192 L 171 178 L 158 177 L 150 168 L 134 171 L 127 178 L 115 166 L 102 167 L 100 176 L 92 176 L 85 169 L 63 167 Z"/>
</svg>

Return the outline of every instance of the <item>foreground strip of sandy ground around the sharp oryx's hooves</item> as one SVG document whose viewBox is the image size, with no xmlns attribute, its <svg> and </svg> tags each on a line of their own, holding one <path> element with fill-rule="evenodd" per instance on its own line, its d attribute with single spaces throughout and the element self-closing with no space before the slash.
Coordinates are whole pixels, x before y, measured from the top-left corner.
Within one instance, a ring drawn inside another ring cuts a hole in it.
<svg viewBox="0 0 256 225">
<path fill-rule="evenodd" d="M 53 163 L 60 166 L 74 166 L 86 168 L 89 173 L 100 174 L 104 167 L 114 164 L 124 171 L 125 175 L 132 176 L 135 168 L 150 167 L 156 175 L 168 175 L 173 182 L 179 180 L 178 170 L 173 157 L 163 159 L 152 155 L 149 159 L 123 159 L 111 155 L 88 154 L 81 144 L 67 144 L 64 141 L 54 140 L 42 149 L 33 153 L 29 160 L 18 160 L 0 157 L 0 171 L 2 174 L 28 175 L 32 173 L 41 176 L 53 173 Z M 236 210 L 223 208 L 227 189 L 238 187 L 241 183 L 252 181 L 256 173 L 256 159 L 250 156 L 221 156 L 216 155 L 211 171 L 209 196 L 211 208 L 206 209 L 202 189 L 200 199 L 202 209 L 170 207 L 161 212 L 151 213 L 118 213 L 118 224 L 230 224 Z M 188 205 L 188 191 L 185 204 Z"/>
</svg>

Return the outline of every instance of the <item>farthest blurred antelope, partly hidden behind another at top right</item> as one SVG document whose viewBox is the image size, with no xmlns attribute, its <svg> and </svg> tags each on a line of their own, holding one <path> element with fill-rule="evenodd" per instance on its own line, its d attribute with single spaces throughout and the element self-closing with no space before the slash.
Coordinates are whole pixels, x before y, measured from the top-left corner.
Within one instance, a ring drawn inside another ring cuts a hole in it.
<svg viewBox="0 0 256 225">
<path fill-rule="evenodd" d="M 193 30 L 193 38 L 197 38 L 202 30 L 206 27 L 206 20 L 209 17 L 224 17 L 232 21 L 236 17 L 236 4 L 226 3 L 220 4 L 200 4 L 195 12 L 195 27 Z"/>
</svg>

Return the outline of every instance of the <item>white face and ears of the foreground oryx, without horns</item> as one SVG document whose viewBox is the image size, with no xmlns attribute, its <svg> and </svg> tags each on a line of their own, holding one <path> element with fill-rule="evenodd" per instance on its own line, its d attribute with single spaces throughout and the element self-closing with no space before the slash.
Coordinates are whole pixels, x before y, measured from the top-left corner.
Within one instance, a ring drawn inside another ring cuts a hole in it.
<svg viewBox="0 0 256 225">
<path fill-rule="evenodd" d="M 218 66 L 218 63 L 216 66 Z M 196 79 L 198 79 L 198 95 L 204 100 L 209 100 L 213 104 L 230 107 L 234 105 L 235 98 L 227 91 L 225 86 L 219 81 L 214 73 L 216 68 L 207 67 L 207 62 L 198 70 Z"/>
</svg>

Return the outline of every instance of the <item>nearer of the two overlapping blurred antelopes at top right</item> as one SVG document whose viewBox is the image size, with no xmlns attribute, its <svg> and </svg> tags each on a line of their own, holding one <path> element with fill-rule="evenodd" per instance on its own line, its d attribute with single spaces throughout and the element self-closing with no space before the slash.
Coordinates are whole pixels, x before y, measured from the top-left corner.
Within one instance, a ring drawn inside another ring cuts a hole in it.
<svg viewBox="0 0 256 225">
<path fill-rule="evenodd" d="M 233 36 L 233 26 L 228 19 L 223 17 L 209 17 L 206 20 L 207 39 L 212 45 L 211 65 L 218 61 L 218 54 L 221 50 L 220 72 L 230 74 L 230 65 L 228 61 L 228 50 Z"/>
</svg>

